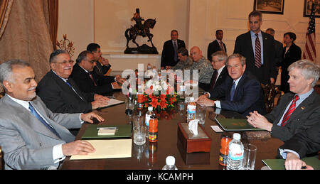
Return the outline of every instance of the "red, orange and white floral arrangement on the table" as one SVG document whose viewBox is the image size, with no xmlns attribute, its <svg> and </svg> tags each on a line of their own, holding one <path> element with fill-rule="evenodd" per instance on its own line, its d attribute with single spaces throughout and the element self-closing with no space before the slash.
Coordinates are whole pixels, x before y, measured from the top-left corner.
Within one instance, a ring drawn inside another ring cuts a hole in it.
<svg viewBox="0 0 320 184">
<path fill-rule="evenodd" d="M 155 110 L 164 110 L 174 107 L 178 94 L 174 87 L 163 80 L 148 80 L 142 85 L 144 107 L 152 106 Z"/>
</svg>

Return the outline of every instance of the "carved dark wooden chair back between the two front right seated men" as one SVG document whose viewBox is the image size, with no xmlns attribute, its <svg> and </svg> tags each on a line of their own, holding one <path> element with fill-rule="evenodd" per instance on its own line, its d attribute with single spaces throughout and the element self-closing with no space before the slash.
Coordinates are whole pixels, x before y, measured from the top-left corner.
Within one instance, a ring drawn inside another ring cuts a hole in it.
<svg viewBox="0 0 320 184">
<path fill-rule="evenodd" d="M 274 84 L 261 85 L 265 92 L 265 107 L 267 113 L 270 113 L 284 92 L 280 91 Z"/>
</svg>

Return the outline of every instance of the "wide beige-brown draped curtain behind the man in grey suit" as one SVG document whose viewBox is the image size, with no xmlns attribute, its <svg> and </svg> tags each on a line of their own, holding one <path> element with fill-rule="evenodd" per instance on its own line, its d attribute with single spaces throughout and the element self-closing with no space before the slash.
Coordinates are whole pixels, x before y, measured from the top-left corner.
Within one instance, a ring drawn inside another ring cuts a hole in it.
<svg viewBox="0 0 320 184">
<path fill-rule="evenodd" d="M 49 34 L 48 1 L 14 0 L 6 30 L 0 38 L 0 63 L 26 60 L 39 81 L 50 70 L 53 44 Z"/>
</svg>

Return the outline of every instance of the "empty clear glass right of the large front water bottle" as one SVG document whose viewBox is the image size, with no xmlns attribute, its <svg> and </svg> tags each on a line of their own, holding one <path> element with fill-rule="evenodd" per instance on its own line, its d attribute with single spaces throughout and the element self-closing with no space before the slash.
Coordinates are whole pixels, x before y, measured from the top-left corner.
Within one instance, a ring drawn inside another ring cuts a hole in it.
<svg viewBox="0 0 320 184">
<path fill-rule="evenodd" d="M 253 144 L 243 144 L 244 154 L 242 160 L 243 170 L 255 169 L 255 157 L 257 156 L 257 146 Z"/>
</svg>

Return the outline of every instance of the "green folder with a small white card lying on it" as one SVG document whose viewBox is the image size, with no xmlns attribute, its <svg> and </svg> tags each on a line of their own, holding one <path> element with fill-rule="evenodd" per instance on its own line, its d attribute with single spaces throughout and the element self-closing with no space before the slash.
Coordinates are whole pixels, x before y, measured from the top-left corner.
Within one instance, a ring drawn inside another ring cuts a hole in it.
<svg viewBox="0 0 320 184">
<path fill-rule="evenodd" d="M 98 127 L 117 127 L 114 135 L 109 136 L 98 136 Z M 89 124 L 85 133 L 81 139 L 107 139 L 107 138 L 130 138 L 131 137 L 131 125 L 130 124 L 118 124 L 118 125 L 106 125 L 106 124 Z"/>
</svg>

